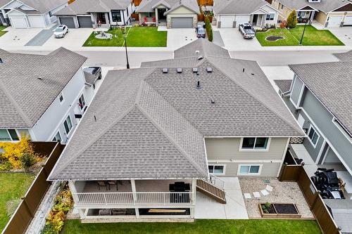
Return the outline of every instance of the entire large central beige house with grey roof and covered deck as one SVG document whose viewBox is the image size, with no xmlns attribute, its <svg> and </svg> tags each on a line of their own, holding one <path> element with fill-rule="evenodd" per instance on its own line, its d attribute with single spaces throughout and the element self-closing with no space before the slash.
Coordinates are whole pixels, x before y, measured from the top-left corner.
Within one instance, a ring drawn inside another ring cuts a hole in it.
<svg viewBox="0 0 352 234">
<path fill-rule="evenodd" d="M 277 176 L 304 136 L 254 61 L 198 39 L 175 59 L 111 70 L 49 175 L 81 219 L 194 218 L 216 176 Z M 219 183 L 218 183 L 219 182 Z"/>
</svg>

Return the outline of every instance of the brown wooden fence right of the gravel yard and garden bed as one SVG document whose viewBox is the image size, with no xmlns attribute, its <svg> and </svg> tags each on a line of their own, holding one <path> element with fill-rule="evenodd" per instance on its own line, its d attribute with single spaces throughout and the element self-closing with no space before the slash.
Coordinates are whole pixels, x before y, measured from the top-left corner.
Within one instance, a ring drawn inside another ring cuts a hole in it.
<svg viewBox="0 0 352 234">
<path fill-rule="evenodd" d="M 279 181 L 296 181 L 324 234 L 339 234 L 334 219 L 302 165 L 284 164 Z"/>
</svg>

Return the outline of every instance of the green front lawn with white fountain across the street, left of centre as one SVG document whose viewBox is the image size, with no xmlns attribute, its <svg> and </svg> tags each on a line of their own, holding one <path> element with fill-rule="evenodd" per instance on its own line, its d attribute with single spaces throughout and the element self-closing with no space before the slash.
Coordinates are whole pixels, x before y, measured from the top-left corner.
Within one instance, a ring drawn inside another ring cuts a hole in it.
<svg viewBox="0 0 352 234">
<path fill-rule="evenodd" d="M 108 33 L 113 34 L 113 39 L 96 39 L 96 34 L 92 33 L 83 46 L 125 46 L 123 34 L 119 28 L 108 30 Z M 158 31 L 158 27 L 130 27 L 127 30 L 127 46 L 165 47 L 167 37 L 168 32 Z"/>
</svg>

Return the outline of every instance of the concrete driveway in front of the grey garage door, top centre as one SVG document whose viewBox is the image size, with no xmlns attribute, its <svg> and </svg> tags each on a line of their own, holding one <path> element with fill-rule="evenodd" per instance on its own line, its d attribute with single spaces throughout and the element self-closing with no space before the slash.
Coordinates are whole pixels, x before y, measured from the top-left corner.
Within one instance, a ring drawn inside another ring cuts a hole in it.
<svg viewBox="0 0 352 234">
<path fill-rule="evenodd" d="M 193 28 L 168 29 L 168 48 L 177 49 L 196 40 Z"/>
</svg>

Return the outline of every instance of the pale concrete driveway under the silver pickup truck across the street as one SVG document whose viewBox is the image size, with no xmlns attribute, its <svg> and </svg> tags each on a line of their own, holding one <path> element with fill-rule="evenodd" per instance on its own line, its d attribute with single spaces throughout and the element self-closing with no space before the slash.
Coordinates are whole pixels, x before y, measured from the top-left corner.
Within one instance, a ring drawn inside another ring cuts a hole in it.
<svg viewBox="0 0 352 234">
<path fill-rule="evenodd" d="M 237 28 L 216 28 L 213 31 L 219 31 L 225 48 L 229 51 L 260 51 L 259 41 L 254 39 L 244 39 Z"/>
</svg>

